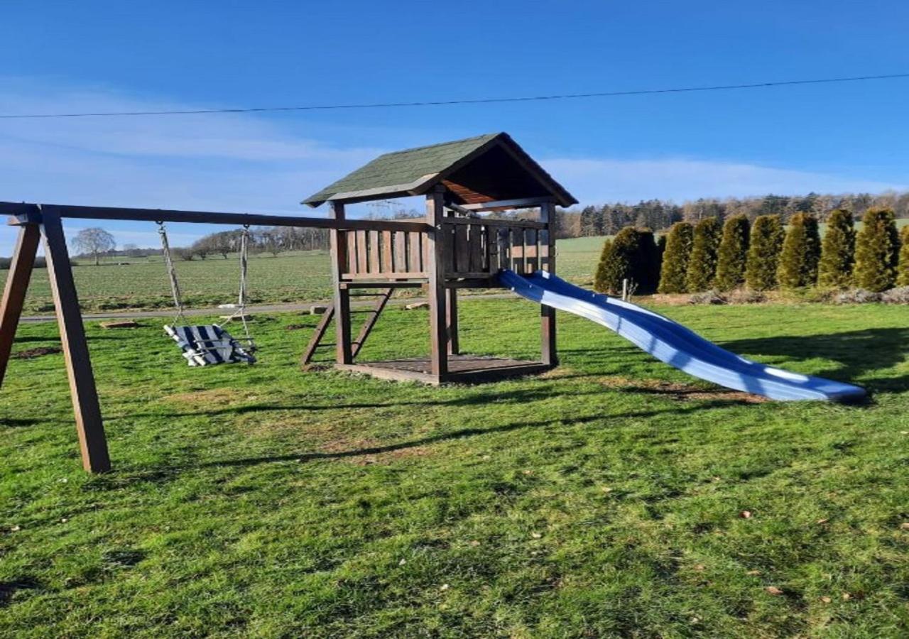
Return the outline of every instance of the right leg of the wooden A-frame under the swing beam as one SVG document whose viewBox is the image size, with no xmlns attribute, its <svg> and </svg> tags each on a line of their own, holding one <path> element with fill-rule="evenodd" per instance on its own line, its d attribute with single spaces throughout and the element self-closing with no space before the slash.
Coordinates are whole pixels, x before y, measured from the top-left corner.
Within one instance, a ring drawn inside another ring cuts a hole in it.
<svg viewBox="0 0 909 639">
<path fill-rule="evenodd" d="M 82 312 L 79 310 L 79 299 L 75 293 L 73 269 L 69 264 L 69 252 L 66 250 L 66 238 L 60 216 L 42 215 L 41 232 L 45 237 L 47 275 L 54 294 L 66 373 L 69 374 L 69 391 L 73 397 L 75 427 L 82 449 L 82 465 L 90 473 L 105 473 L 111 468 L 105 426 L 101 419 L 95 374 L 88 355 Z"/>
</svg>

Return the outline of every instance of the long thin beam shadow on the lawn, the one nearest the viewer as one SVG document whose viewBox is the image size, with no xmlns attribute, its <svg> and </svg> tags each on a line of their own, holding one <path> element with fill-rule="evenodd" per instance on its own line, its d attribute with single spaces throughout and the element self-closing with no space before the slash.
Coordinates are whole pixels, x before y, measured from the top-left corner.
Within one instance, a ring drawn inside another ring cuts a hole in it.
<svg viewBox="0 0 909 639">
<path fill-rule="evenodd" d="M 357 448 L 354 450 L 347 451 L 333 451 L 329 453 L 295 453 L 295 454 L 278 454 L 271 456 L 261 456 L 261 457 L 247 457 L 243 459 L 228 459 L 215 462 L 205 462 L 204 464 L 195 464 L 201 467 L 212 467 L 212 466 L 251 466 L 256 464 L 270 464 L 274 462 L 311 462 L 317 460 L 325 459 L 345 459 L 348 457 L 359 457 L 363 455 L 372 455 L 372 454 L 384 454 L 384 453 L 395 453 L 398 451 L 407 450 L 409 448 L 416 448 L 419 446 L 425 446 L 429 444 L 438 444 L 440 442 L 453 441 L 457 439 L 464 439 L 467 437 L 474 437 L 479 435 L 487 434 L 500 434 L 500 433 L 510 433 L 516 430 L 523 430 L 524 428 L 544 428 L 547 426 L 565 426 L 565 425 L 575 425 L 575 424 L 592 424 L 595 422 L 605 422 L 614 419 L 641 419 L 646 417 L 656 417 L 664 414 L 688 414 L 694 412 L 701 412 L 705 410 L 713 410 L 716 408 L 726 408 L 733 405 L 744 404 L 741 401 L 720 401 L 714 400 L 711 402 L 706 402 L 704 404 L 689 405 L 684 407 L 674 407 L 665 410 L 654 410 L 654 411 L 636 411 L 631 413 L 623 414 L 588 414 L 578 417 L 572 417 L 571 419 L 553 419 L 553 420 L 544 420 L 540 422 L 513 422 L 511 424 L 502 424 L 500 426 L 492 426 L 489 428 L 461 428 L 456 431 L 449 433 L 440 433 L 434 434 L 429 437 L 423 437 L 421 439 L 416 439 L 410 442 L 401 442 L 398 444 L 387 444 L 384 446 L 370 446 L 367 448 Z M 173 470 L 180 470 L 175 468 Z"/>
</svg>

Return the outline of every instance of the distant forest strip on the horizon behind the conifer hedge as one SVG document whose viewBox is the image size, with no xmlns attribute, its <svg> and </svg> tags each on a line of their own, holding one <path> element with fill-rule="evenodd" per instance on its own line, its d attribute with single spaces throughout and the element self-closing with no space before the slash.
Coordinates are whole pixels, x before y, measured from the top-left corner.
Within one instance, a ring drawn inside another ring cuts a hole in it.
<svg viewBox="0 0 909 639">
<path fill-rule="evenodd" d="M 737 214 L 747 215 L 751 220 L 758 215 L 779 214 L 785 221 L 796 213 L 812 213 L 824 222 L 831 211 L 839 208 L 851 211 L 859 218 L 868 208 L 878 206 L 893 209 L 897 218 L 909 217 L 909 192 L 891 191 L 879 195 L 809 193 L 795 196 L 729 197 L 722 200 L 701 198 L 681 205 L 664 200 L 646 200 L 636 205 L 584 205 L 580 209 L 559 212 L 558 236 L 615 235 L 625 226 L 662 231 L 681 220 L 697 222 L 705 217 L 722 219 Z"/>
</svg>

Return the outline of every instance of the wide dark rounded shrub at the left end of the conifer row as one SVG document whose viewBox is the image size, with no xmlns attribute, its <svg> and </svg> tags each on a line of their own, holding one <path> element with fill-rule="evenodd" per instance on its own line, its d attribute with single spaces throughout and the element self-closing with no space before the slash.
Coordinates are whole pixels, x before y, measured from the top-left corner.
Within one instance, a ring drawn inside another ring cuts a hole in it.
<svg viewBox="0 0 909 639">
<path fill-rule="evenodd" d="M 628 279 L 637 286 L 638 293 L 653 293 L 657 258 L 653 231 L 625 227 L 604 242 L 594 289 L 616 295 L 622 291 L 622 280 Z"/>
</svg>

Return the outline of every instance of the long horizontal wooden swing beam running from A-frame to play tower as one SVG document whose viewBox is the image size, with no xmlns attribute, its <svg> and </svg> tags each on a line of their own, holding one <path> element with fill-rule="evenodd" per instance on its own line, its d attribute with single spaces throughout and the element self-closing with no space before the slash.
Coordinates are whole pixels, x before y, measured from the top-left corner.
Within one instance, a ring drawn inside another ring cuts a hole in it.
<svg viewBox="0 0 909 639">
<path fill-rule="evenodd" d="M 401 220 L 339 220 L 322 217 L 265 215 L 253 213 L 217 213 L 211 211 L 176 211 L 153 208 L 120 208 L 115 206 L 35 205 L 0 202 L 0 215 L 10 215 L 11 225 L 40 224 L 41 215 L 84 220 L 127 220 L 135 222 L 173 222 L 209 225 L 295 226 L 351 231 L 428 231 L 422 222 Z"/>
</svg>

